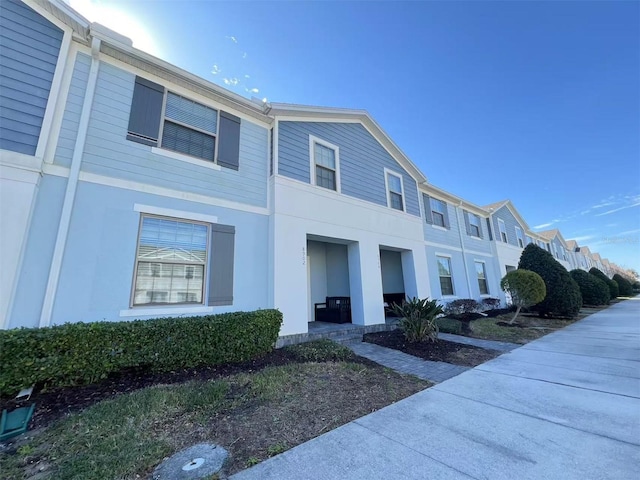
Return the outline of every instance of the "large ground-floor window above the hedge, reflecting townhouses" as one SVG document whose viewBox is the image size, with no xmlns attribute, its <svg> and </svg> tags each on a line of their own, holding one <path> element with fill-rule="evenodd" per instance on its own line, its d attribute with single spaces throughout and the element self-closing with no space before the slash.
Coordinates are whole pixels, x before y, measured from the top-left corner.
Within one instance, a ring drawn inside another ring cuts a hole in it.
<svg viewBox="0 0 640 480">
<path fill-rule="evenodd" d="M 204 304 L 210 226 L 140 216 L 131 306 Z"/>
</svg>

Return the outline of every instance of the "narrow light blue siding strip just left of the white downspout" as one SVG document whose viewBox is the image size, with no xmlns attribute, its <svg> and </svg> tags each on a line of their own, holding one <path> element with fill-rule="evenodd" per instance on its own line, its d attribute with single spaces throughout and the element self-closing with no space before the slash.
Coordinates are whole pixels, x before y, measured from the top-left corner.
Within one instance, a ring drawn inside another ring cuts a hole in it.
<svg viewBox="0 0 640 480">
<path fill-rule="evenodd" d="M 54 158 L 54 163 L 58 165 L 65 167 L 71 165 L 90 69 L 91 57 L 79 53 L 73 67 L 73 75 L 71 76 L 69 93 L 67 94 L 67 104 L 65 105 L 60 134 L 58 135 L 58 145 Z"/>
</svg>

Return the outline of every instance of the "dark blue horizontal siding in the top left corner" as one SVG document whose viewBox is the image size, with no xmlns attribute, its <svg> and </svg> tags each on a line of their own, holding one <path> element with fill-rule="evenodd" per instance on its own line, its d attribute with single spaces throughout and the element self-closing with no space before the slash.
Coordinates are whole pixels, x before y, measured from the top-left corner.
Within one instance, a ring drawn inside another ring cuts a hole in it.
<svg viewBox="0 0 640 480">
<path fill-rule="evenodd" d="M 34 155 L 64 33 L 18 0 L 0 6 L 0 149 Z"/>
</svg>

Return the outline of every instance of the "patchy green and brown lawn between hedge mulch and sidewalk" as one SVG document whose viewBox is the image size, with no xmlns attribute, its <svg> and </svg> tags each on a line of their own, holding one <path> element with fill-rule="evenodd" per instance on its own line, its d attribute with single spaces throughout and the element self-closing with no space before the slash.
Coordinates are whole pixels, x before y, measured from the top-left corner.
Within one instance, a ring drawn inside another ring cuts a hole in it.
<svg viewBox="0 0 640 480">
<path fill-rule="evenodd" d="M 346 354 L 327 344 L 293 350 Z M 358 362 L 294 362 L 121 394 L 0 451 L 0 477 L 146 478 L 165 457 L 204 441 L 230 451 L 230 474 L 430 386 Z"/>
</svg>

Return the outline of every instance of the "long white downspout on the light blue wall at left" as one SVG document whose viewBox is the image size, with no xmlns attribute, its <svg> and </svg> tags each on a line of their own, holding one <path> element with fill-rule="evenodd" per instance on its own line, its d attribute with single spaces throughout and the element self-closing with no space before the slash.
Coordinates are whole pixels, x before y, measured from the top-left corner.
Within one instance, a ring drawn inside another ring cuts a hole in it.
<svg viewBox="0 0 640 480">
<path fill-rule="evenodd" d="M 67 246 L 71 214 L 73 213 L 73 203 L 78 190 L 80 165 L 82 163 L 82 155 L 84 154 L 87 130 L 89 128 L 89 117 L 91 116 L 91 108 L 93 107 L 93 97 L 96 90 L 96 81 L 98 79 L 98 68 L 100 62 L 99 55 L 100 39 L 94 37 L 91 40 L 91 69 L 89 70 L 89 78 L 87 80 L 87 91 L 82 105 L 82 113 L 80 114 L 78 135 L 73 148 L 73 157 L 71 159 L 71 167 L 69 168 L 69 179 L 67 181 L 67 189 L 64 194 L 62 213 L 60 214 L 58 235 L 56 236 L 56 243 L 53 250 L 51 269 L 49 270 L 49 280 L 47 281 L 44 302 L 40 313 L 40 327 L 47 327 L 51 323 L 53 305 L 55 303 L 56 293 L 58 290 L 58 280 L 60 279 L 60 271 L 62 269 L 62 259 Z"/>
</svg>

